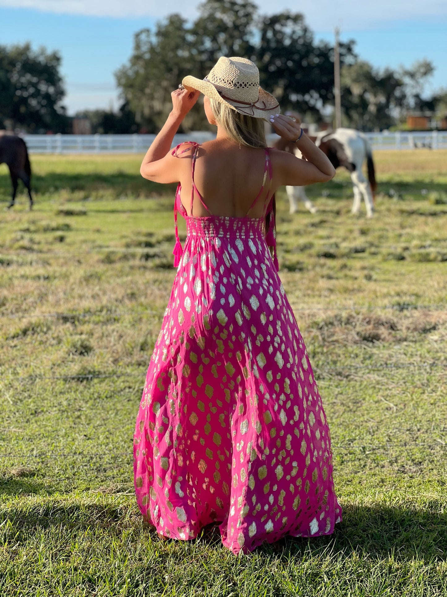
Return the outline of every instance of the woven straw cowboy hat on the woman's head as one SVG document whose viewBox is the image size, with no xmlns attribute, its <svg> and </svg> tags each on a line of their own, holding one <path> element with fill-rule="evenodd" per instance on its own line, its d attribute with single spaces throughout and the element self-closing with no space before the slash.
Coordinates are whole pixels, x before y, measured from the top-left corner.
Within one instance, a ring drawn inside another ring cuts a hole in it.
<svg viewBox="0 0 447 597">
<path fill-rule="evenodd" d="M 271 115 L 281 111 L 278 101 L 259 87 L 259 70 L 246 58 L 219 58 L 204 79 L 185 76 L 182 85 L 188 91 L 201 91 L 246 116 L 269 121 Z"/>
</svg>

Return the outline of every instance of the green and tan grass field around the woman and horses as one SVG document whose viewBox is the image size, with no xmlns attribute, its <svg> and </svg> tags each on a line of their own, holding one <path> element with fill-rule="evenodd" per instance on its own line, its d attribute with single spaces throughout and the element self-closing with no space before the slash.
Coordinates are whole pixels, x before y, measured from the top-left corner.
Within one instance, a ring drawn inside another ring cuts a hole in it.
<svg viewBox="0 0 447 597">
<path fill-rule="evenodd" d="M 342 173 L 308 189 L 315 215 L 279 193 L 344 519 L 240 558 L 215 530 L 160 541 L 136 507 L 134 422 L 175 275 L 173 189 L 140 159 L 32 156 L 32 213 L 24 195 L 4 211 L 0 168 L 0 595 L 447 595 L 447 151 L 376 152 L 373 220 L 350 215 Z"/>
</svg>

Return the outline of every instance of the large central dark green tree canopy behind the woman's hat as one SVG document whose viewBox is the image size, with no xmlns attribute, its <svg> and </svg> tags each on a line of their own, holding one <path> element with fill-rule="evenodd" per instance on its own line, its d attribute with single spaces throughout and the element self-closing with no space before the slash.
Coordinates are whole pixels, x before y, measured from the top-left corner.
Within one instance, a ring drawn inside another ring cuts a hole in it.
<svg viewBox="0 0 447 597">
<path fill-rule="evenodd" d="M 203 78 L 220 56 L 245 56 L 260 71 L 260 82 L 283 109 L 319 115 L 333 98 L 333 48 L 316 42 L 302 14 L 260 16 L 251 0 L 206 0 L 194 23 L 178 14 L 136 33 L 134 53 L 116 73 L 122 96 L 136 119 L 156 131 L 170 110 L 170 93 L 185 75 Z M 342 60 L 354 60 L 353 42 L 342 45 Z M 194 110 L 185 130 L 206 127 Z"/>
</svg>

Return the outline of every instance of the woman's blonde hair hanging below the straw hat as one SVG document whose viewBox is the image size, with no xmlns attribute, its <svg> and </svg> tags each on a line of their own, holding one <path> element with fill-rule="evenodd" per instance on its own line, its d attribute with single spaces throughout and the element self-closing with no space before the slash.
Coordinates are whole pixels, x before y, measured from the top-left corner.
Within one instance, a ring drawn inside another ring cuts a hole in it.
<svg viewBox="0 0 447 597">
<path fill-rule="evenodd" d="M 209 98 L 216 121 L 225 129 L 229 139 L 246 147 L 266 147 L 264 121 L 233 110 L 227 104 Z"/>
</svg>

